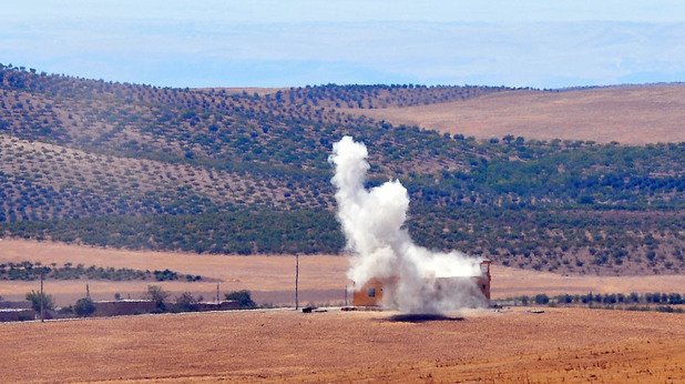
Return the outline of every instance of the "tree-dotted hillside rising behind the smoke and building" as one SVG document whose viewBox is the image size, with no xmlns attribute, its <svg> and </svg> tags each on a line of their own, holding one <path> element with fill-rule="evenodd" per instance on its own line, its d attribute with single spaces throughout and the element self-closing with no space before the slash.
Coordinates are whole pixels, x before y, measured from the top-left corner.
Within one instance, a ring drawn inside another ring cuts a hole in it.
<svg viewBox="0 0 685 384">
<path fill-rule="evenodd" d="M 327 158 L 351 134 L 369 148 L 370 185 L 407 185 L 408 229 L 421 244 L 560 273 L 685 269 L 685 143 L 479 141 L 337 107 L 367 113 L 369 102 L 470 103 L 530 90 L 269 92 L 0 67 L 0 232 L 197 253 L 338 253 Z"/>
</svg>

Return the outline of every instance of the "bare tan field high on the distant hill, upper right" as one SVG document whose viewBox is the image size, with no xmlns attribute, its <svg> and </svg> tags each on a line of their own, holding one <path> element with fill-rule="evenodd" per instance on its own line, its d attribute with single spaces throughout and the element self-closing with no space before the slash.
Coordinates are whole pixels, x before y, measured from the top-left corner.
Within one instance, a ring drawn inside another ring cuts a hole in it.
<svg viewBox="0 0 685 384">
<path fill-rule="evenodd" d="M 346 110 L 395 124 L 476 138 L 685 141 L 685 85 L 634 85 L 565 92 L 501 92 L 420 107 Z"/>
</svg>

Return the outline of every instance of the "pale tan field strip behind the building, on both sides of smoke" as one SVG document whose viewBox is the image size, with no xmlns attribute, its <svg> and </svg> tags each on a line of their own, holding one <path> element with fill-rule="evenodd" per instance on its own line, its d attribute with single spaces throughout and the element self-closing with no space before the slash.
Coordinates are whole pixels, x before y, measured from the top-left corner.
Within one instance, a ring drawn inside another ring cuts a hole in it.
<svg viewBox="0 0 685 384">
<path fill-rule="evenodd" d="M 294 256 L 197 255 L 173 252 L 143 252 L 24 240 L 0 240 L 0 263 L 41 261 L 43 264 L 71 262 L 84 265 L 131 267 L 137 270 L 171 269 L 180 273 L 200 274 L 219 281 L 222 292 L 251 290 L 259 303 L 293 303 Z M 339 304 L 345 300 L 348 283 L 345 256 L 308 255 L 300 257 L 300 300 L 303 303 Z M 685 275 L 647 276 L 562 276 L 554 273 L 526 271 L 500 265 L 492 266 L 492 295 L 503 299 L 517 295 L 546 293 L 584 294 L 630 292 L 685 292 Z M 85 280 L 49 281 L 48 292 L 58 304 L 71 304 L 85 294 Z M 216 282 L 112 282 L 91 281 L 94 299 L 112 299 L 114 293 L 137 299 L 149 284 L 160 284 L 172 293 L 185 291 L 206 299 L 216 294 Z M 0 295 L 23 300 L 38 282 L 0 282 Z"/>
</svg>

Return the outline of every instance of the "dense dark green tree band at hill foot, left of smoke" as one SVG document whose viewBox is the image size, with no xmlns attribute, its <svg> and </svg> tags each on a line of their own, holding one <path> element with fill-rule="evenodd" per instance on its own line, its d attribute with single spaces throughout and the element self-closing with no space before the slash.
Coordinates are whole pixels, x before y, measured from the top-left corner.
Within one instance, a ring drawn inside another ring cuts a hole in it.
<svg viewBox="0 0 685 384">
<path fill-rule="evenodd" d="M 0 231 L 68 243 L 80 240 L 98 246 L 196 253 L 337 253 L 344 246 L 335 216 L 310 210 L 255 208 L 194 215 L 23 221 L 0 224 Z"/>
</svg>

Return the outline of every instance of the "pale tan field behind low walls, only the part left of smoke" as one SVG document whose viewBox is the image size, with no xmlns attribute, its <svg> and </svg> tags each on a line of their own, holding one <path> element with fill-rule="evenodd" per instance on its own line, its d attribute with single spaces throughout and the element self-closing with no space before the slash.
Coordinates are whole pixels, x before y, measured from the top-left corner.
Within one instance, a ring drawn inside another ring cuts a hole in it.
<svg viewBox="0 0 685 384">
<path fill-rule="evenodd" d="M 61 243 L 0 240 L 0 262 L 41 261 L 50 263 L 131 267 L 136 270 L 164 270 L 198 274 L 218 280 L 221 291 L 251 290 L 259 303 L 290 303 L 295 285 L 294 256 L 237 256 L 198 255 L 174 252 L 145 252 Z M 300 295 L 303 302 L 343 302 L 345 300 L 345 272 L 347 259 L 340 256 L 311 255 L 300 257 Z M 85 280 L 49 281 L 47 290 L 59 304 L 69 304 L 85 294 Z M 38 282 L 0 282 L 0 295 L 21 299 Z M 150 282 L 150 281 L 91 281 L 90 292 L 95 300 L 111 300 L 114 293 L 139 299 L 149 284 L 162 285 L 173 293 L 185 291 L 212 299 L 216 294 L 216 281 L 209 282 Z"/>
</svg>

